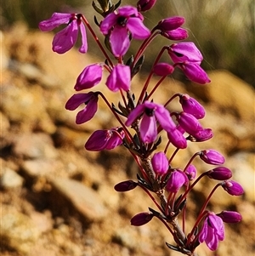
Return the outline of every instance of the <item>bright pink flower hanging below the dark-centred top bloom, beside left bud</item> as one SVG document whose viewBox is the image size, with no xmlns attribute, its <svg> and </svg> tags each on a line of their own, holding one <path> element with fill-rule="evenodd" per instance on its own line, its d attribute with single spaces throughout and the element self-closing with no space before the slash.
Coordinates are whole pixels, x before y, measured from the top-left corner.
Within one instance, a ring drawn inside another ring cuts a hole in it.
<svg viewBox="0 0 255 256">
<path fill-rule="evenodd" d="M 107 77 L 106 85 L 111 91 L 116 92 L 119 89 L 128 91 L 130 89 L 131 71 L 129 65 L 117 64 Z"/>
</svg>

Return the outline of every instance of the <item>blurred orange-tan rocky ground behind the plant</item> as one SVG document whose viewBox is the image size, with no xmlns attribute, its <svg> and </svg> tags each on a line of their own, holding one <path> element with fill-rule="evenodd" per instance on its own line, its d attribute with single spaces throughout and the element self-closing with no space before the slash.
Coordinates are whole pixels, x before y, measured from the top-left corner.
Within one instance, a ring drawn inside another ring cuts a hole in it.
<svg viewBox="0 0 255 256">
<path fill-rule="evenodd" d="M 133 227 L 129 219 L 153 204 L 136 189 L 118 194 L 113 186 L 135 179 L 137 168 L 125 149 L 87 152 L 84 143 L 97 128 L 111 128 L 113 120 L 103 102 L 93 121 L 75 124 L 75 112 L 64 105 L 77 75 L 94 57 L 77 50 L 58 55 L 51 51 L 52 35 L 14 26 L 1 34 L 1 255 L 4 256 L 161 256 L 179 255 L 167 249 L 173 242 L 155 219 Z M 184 85 L 171 78 L 157 100 L 173 92 L 195 95 L 206 105 L 205 127 L 214 137 L 191 144 L 176 158 L 184 167 L 189 157 L 205 148 L 227 156 L 226 166 L 243 185 L 244 196 L 219 190 L 209 205 L 215 212 L 237 210 L 243 220 L 226 226 L 217 255 L 255 253 L 254 234 L 254 90 L 228 71 L 210 73 L 210 86 Z M 139 84 L 139 78 L 136 78 Z M 116 102 L 115 94 L 109 94 Z M 174 106 L 175 107 L 175 106 Z M 199 164 L 199 163 L 198 163 Z M 208 168 L 200 165 L 200 171 Z M 207 169 L 206 169 L 207 170 Z M 213 186 L 205 180 L 190 198 L 189 224 L 196 205 Z M 201 246 L 199 255 L 216 255 Z"/>
</svg>

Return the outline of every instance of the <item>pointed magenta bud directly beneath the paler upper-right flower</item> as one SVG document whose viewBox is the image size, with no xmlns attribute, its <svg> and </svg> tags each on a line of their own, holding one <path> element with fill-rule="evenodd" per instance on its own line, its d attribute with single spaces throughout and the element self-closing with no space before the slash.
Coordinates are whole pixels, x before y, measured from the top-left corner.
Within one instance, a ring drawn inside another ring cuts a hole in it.
<svg viewBox="0 0 255 256">
<path fill-rule="evenodd" d="M 207 72 L 204 71 L 199 64 L 185 61 L 179 64 L 178 67 L 184 72 L 184 75 L 192 82 L 205 84 L 211 82 L 207 76 Z"/>
</svg>

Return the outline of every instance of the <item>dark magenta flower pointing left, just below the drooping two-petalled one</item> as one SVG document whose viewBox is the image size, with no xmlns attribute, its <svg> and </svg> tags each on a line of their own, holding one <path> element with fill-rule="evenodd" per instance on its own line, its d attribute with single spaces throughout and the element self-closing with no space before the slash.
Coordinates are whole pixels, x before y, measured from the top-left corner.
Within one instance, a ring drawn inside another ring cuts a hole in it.
<svg viewBox="0 0 255 256">
<path fill-rule="evenodd" d="M 122 144 L 125 134 L 122 128 L 95 131 L 85 144 L 87 151 L 112 150 Z"/>
</svg>

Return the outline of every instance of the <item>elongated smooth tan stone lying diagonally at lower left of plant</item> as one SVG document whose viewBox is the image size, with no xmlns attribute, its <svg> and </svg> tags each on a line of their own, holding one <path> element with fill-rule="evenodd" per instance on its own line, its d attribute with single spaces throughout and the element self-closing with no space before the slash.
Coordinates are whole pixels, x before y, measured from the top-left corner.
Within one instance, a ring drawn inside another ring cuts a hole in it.
<svg viewBox="0 0 255 256">
<path fill-rule="evenodd" d="M 107 214 L 99 195 L 82 183 L 72 179 L 56 178 L 51 180 L 51 184 L 89 221 L 103 219 Z"/>
</svg>

